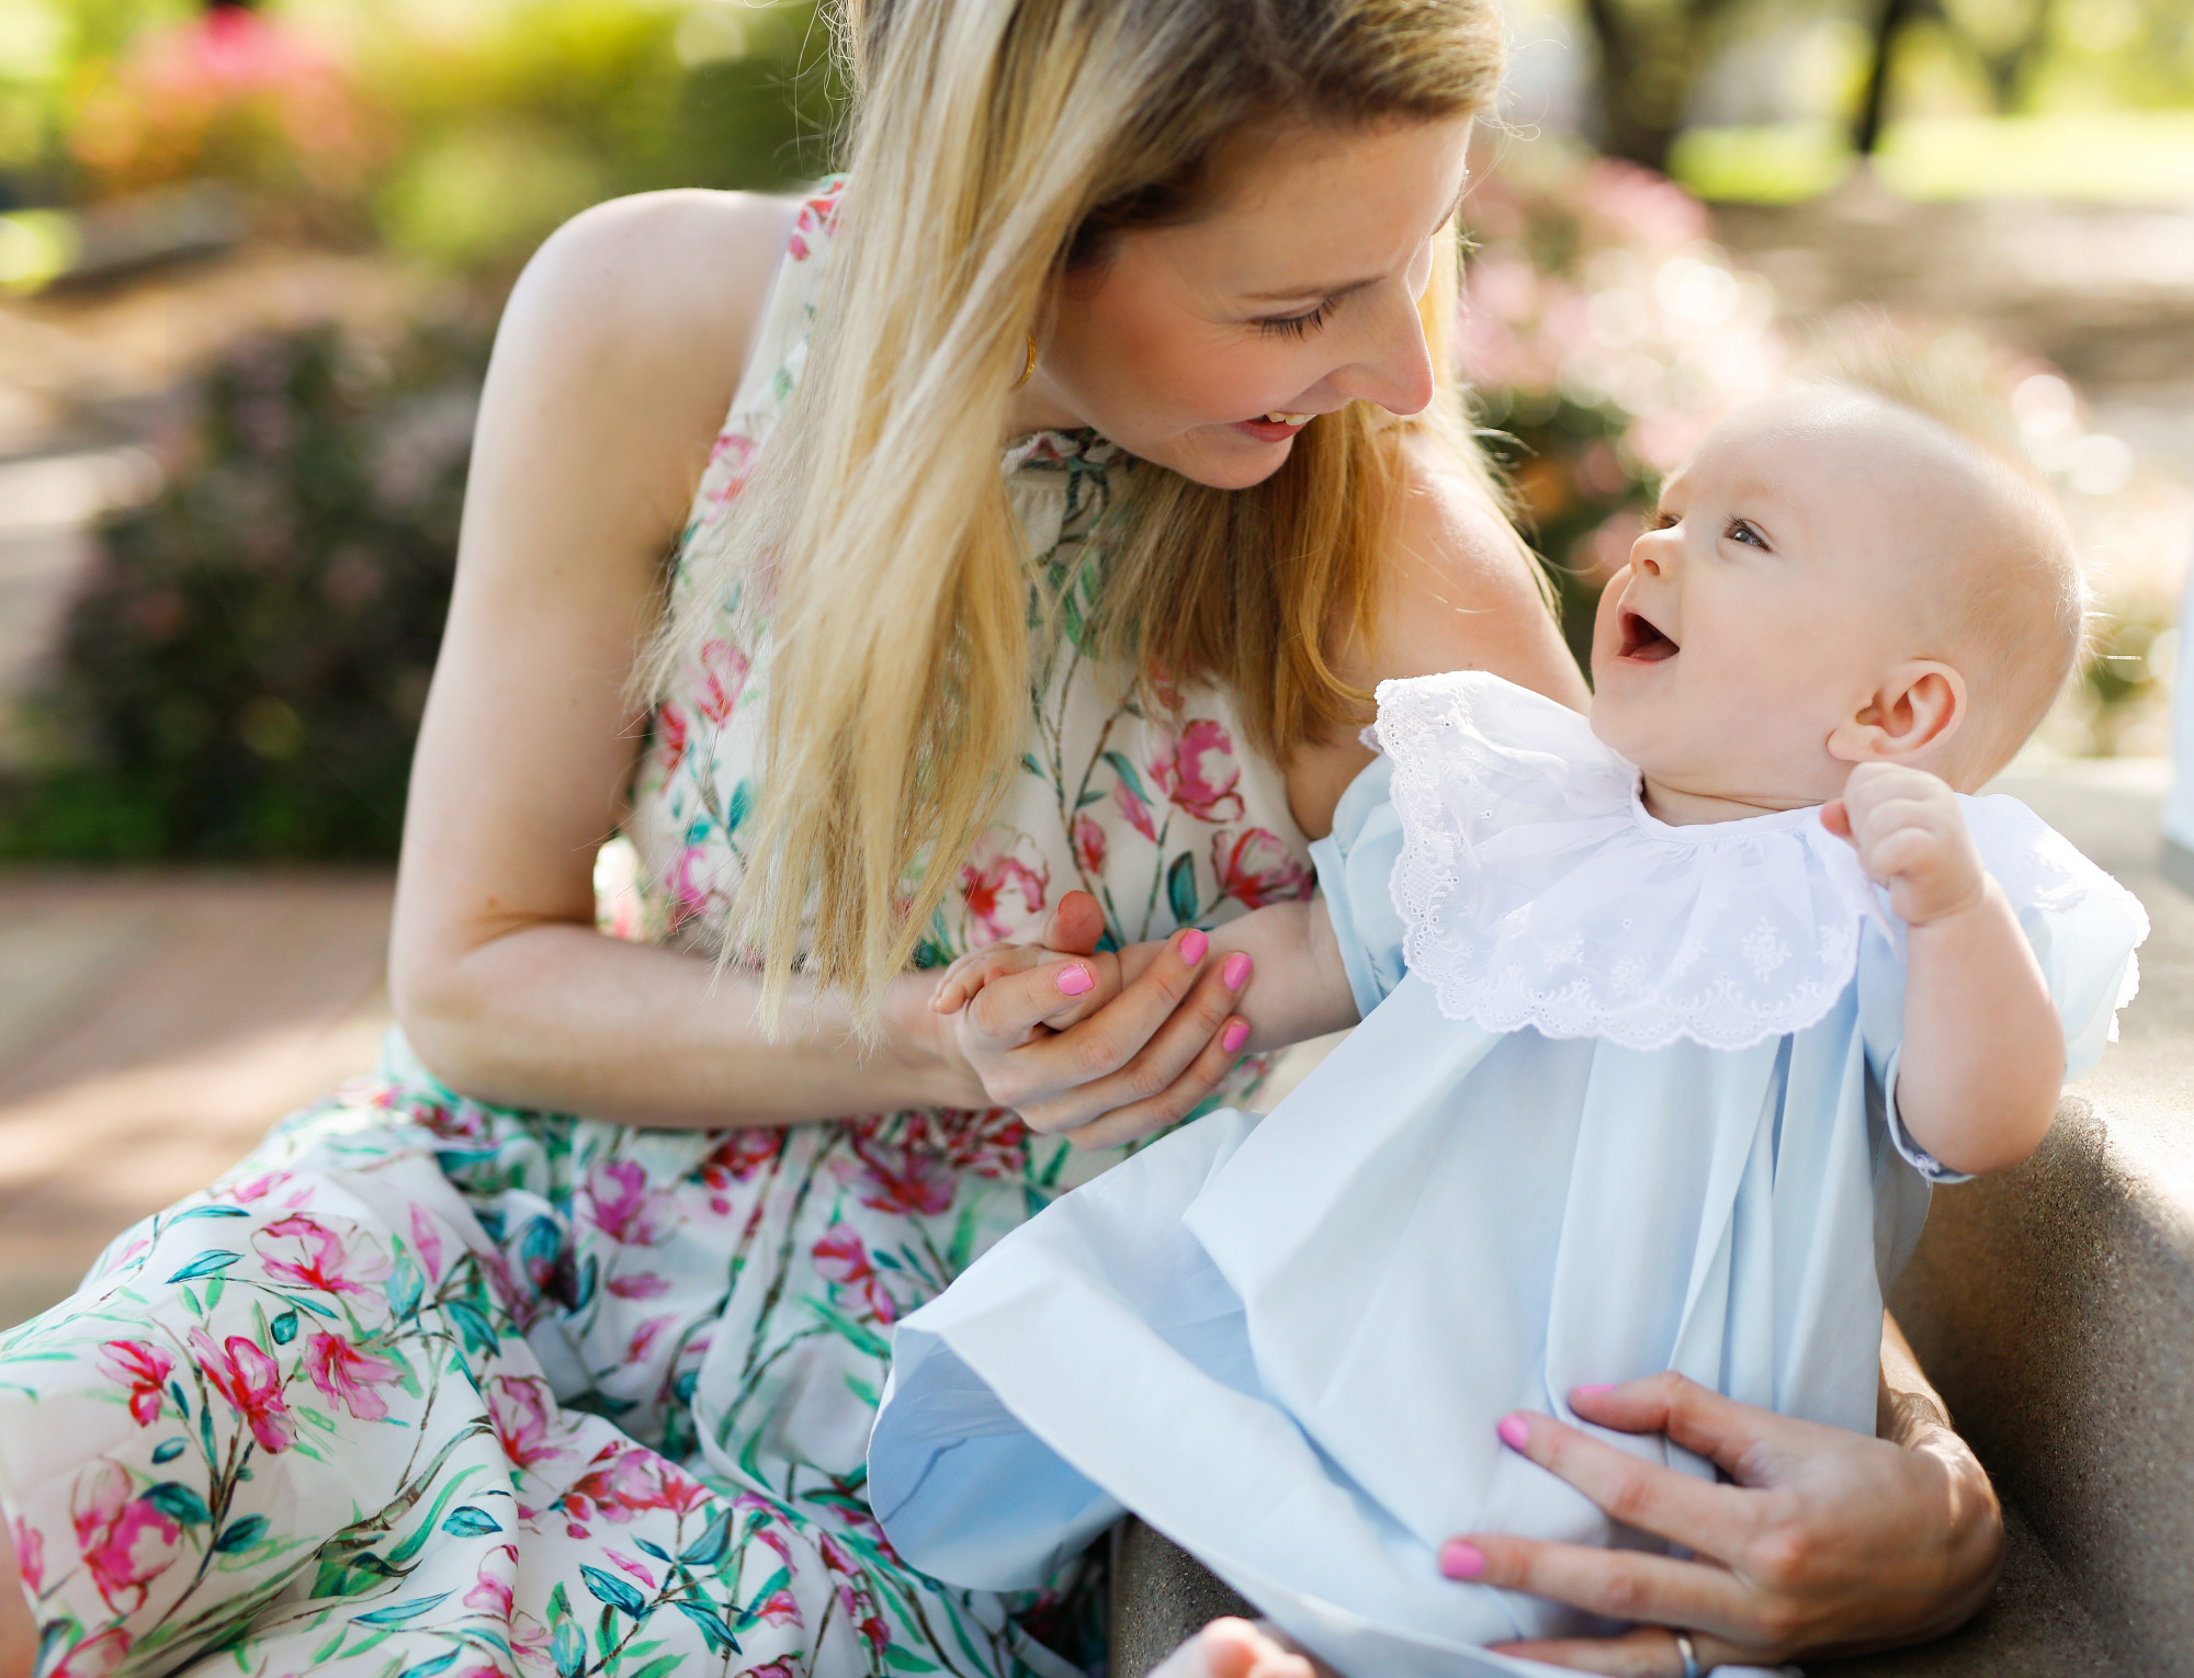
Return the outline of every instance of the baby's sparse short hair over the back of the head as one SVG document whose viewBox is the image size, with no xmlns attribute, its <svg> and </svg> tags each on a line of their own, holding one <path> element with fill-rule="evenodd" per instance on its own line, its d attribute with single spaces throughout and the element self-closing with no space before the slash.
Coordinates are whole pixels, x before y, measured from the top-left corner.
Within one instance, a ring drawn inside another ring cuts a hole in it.
<svg viewBox="0 0 2194 1678">
<path fill-rule="evenodd" d="M 1843 322 L 1803 362 L 1808 384 L 1902 408 L 1957 439 L 2003 518 L 1986 564 L 1955 566 L 1944 656 L 1966 678 L 1968 717 L 1946 779 L 1975 787 L 2040 726 L 2086 640 L 2086 577 L 2065 513 L 2027 454 L 2012 404 L 1977 353 L 1922 342 L 1887 320 Z"/>
</svg>

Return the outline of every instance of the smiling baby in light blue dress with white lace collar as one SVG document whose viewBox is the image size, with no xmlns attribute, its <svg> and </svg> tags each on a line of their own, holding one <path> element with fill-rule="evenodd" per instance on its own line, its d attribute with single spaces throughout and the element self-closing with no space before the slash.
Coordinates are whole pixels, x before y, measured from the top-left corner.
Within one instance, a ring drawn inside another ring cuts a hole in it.
<svg viewBox="0 0 2194 1678">
<path fill-rule="evenodd" d="M 1650 1540 L 1496 1421 L 1676 1369 L 1871 1432 L 1929 1184 L 2040 1143 L 2146 937 L 1970 796 L 2073 665 L 2078 566 L 1904 373 L 1727 419 L 1650 524 L 1588 722 L 1483 673 L 1384 682 L 1319 895 L 1211 934 L 1255 959 L 1259 1042 L 1360 1020 L 1345 1044 L 897 1327 L 869 1483 L 915 1566 L 1033 1586 L 1132 1509 L 1341 1671 L 1520 1671 L 1481 1645 L 1591 1623 L 1444 1579 L 1441 1540 Z M 937 1005 L 1051 987 L 1064 1024 L 1163 948 L 981 952 Z"/>
</svg>

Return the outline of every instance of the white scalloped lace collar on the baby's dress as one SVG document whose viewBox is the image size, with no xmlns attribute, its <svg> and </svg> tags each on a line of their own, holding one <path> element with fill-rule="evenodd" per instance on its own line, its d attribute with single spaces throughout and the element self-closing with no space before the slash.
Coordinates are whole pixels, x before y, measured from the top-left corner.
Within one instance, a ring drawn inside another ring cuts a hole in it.
<svg viewBox="0 0 2194 1678">
<path fill-rule="evenodd" d="M 1582 715 L 1496 676 L 1380 682 L 1373 733 L 1402 825 L 1402 954 L 1450 1020 L 1746 1048 L 1819 1022 L 1867 915 L 1889 926 L 1819 809 L 1670 827 Z"/>
</svg>

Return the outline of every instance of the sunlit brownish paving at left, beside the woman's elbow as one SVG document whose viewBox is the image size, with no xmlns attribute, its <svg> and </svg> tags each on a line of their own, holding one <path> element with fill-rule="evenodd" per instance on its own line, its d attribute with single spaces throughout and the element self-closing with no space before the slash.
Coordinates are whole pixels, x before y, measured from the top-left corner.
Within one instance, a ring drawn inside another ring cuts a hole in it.
<svg viewBox="0 0 2194 1678">
<path fill-rule="evenodd" d="M 0 1325 L 364 1073 L 380 873 L 0 873 Z"/>
</svg>

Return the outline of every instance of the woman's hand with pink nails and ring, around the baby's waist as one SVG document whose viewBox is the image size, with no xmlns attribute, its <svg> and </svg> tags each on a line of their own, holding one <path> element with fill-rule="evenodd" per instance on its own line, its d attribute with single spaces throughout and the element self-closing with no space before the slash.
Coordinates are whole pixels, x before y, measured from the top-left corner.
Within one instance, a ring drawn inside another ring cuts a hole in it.
<svg viewBox="0 0 2194 1678">
<path fill-rule="evenodd" d="M 1692 1632 L 1703 1671 L 1939 1636 L 1988 1601 L 2003 1513 L 1924 1380 L 1911 1386 L 1882 1388 L 1885 1424 L 1900 1443 L 1738 1404 L 1681 1375 L 1577 1388 L 1571 1406 L 1586 1421 L 1665 1432 L 1735 1485 L 1643 1463 L 1542 1415 L 1507 1417 L 1503 1441 L 1615 1520 L 1696 1560 L 1468 1533 L 1446 1546 L 1441 1568 L 1641 1621 L 1613 1639 L 1501 1645 L 1615 1678 L 1683 1674 L 1663 1628 Z"/>
</svg>

